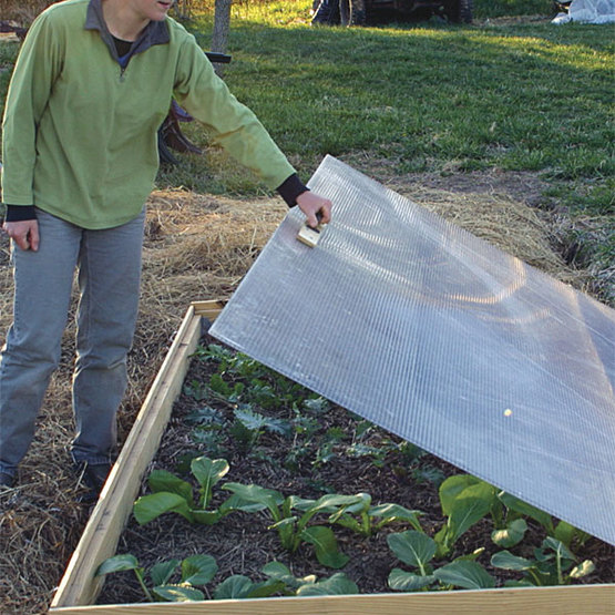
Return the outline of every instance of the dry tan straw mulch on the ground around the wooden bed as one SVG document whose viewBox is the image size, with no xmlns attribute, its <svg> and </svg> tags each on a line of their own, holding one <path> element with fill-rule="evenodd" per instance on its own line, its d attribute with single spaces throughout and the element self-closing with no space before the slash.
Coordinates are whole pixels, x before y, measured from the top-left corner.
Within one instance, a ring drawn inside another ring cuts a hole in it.
<svg viewBox="0 0 615 615">
<path fill-rule="evenodd" d="M 393 186 L 400 188 L 400 186 Z M 403 187 L 403 186 L 401 186 Z M 409 184 L 400 191 L 502 249 L 582 288 L 551 248 L 547 225 L 510 194 Z M 279 199 L 233 202 L 183 191 L 156 192 L 148 204 L 141 314 L 130 355 L 131 383 L 120 410 L 120 441 L 130 430 L 189 301 L 227 297 L 281 222 Z M 0 237 L 0 330 L 10 324 L 9 246 Z M 73 306 L 74 309 L 74 306 Z M 63 340 L 35 440 L 18 486 L 0 495 L 0 612 L 43 612 L 86 523 L 72 473 L 70 377 L 74 327 Z M 3 341 L 3 338 L 2 338 Z"/>
</svg>

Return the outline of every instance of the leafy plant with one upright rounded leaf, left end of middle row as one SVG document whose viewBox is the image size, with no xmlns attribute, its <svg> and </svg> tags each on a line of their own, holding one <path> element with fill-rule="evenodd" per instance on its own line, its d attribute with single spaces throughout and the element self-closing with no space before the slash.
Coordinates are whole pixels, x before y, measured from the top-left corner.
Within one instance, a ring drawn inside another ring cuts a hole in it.
<svg viewBox="0 0 615 615">
<path fill-rule="evenodd" d="M 214 485 L 228 472 L 224 459 L 198 457 L 192 460 L 191 470 L 201 485 L 196 499 L 191 483 L 175 474 L 165 470 L 154 470 L 150 474 L 147 482 L 153 493 L 139 498 L 133 505 L 134 517 L 141 525 L 168 512 L 180 514 L 191 523 L 212 525 L 235 510 L 254 509 L 237 498 L 229 498 L 217 509 L 208 510 Z"/>
</svg>

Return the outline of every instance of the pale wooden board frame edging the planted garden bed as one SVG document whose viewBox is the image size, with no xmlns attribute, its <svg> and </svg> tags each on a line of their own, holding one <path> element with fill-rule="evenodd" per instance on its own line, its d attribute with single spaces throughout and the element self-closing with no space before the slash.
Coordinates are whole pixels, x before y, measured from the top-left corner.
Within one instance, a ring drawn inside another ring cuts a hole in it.
<svg viewBox="0 0 615 615">
<path fill-rule="evenodd" d="M 189 305 L 51 603 L 64 615 L 431 615 L 449 613 L 613 615 L 615 584 L 419 592 L 356 596 L 275 597 L 192 603 L 92 605 L 99 565 L 115 554 L 147 465 L 156 453 L 202 335 L 223 301 Z"/>
</svg>

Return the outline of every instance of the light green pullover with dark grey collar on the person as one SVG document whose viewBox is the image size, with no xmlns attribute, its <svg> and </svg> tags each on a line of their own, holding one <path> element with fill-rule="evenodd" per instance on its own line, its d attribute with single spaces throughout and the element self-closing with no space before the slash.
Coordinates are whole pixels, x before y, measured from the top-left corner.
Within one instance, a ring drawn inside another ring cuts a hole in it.
<svg viewBox="0 0 615 615">
<path fill-rule="evenodd" d="M 152 22 L 123 70 L 103 40 L 106 28 L 92 27 L 96 7 L 100 0 L 59 2 L 30 28 L 2 124 L 4 203 L 92 229 L 134 218 L 153 188 L 157 129 L 172 94 L 268 187 L 294 174 L 181 24 Z"/>
</svg>

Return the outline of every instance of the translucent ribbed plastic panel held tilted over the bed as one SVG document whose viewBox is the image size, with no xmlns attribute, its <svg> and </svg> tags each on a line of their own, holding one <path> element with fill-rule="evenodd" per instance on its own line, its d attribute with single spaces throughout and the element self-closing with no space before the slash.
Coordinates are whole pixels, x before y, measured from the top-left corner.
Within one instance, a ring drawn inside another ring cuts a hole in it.
<svg viewBox="0 0 615 615">
<path fill-rule="evenodd" d="M 309 186 L 318 245 L 291 209 L 211 332 L 615 543 L 615 311 L 334 157 Z"/>
</svg>

